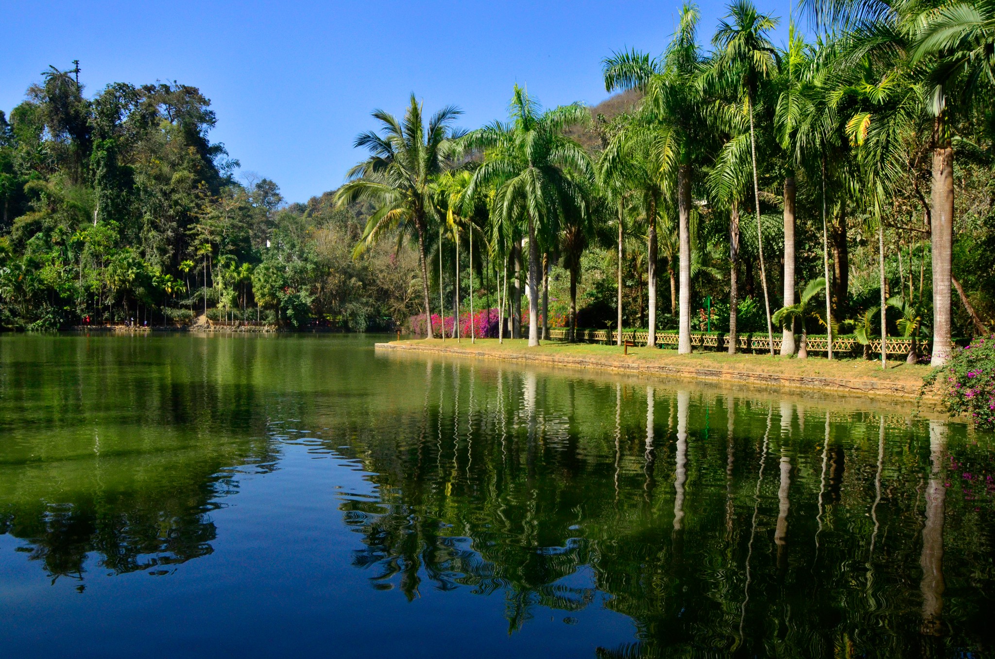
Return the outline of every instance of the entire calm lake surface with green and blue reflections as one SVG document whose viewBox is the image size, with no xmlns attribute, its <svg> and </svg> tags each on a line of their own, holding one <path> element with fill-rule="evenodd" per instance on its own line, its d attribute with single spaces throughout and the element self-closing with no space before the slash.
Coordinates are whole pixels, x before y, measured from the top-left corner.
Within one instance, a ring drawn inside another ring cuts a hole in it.
<svg viewBox="0 0 995 659">
<path fill-rule="evenodd" d="M 0 336 L 7 656 L 993 656 L 995 442 L 859 399 Z"/>
</svg>

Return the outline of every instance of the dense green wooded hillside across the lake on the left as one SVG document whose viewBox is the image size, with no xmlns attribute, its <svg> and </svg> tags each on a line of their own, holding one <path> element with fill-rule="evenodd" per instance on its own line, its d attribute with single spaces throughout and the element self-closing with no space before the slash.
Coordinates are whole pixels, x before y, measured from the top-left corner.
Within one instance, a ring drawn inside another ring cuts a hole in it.
<svg viewBox="0 0 995 659">
<path fill-rule="evenodd" d="M 0 112 L 0 323 L 320 322 L 406 318 L 412 254 L 353 260 L 363 209 L 284 203 L 234 174 L 193 87 L 113 84 L 87 99 L 51 69 Z"/>
</svg>

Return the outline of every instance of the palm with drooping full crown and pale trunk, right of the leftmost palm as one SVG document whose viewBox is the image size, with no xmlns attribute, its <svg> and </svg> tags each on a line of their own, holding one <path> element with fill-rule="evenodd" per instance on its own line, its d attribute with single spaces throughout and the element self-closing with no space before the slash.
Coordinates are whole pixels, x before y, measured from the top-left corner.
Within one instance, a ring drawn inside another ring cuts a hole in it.
<svg viewBox="0 0 995 659">
<path fill-rule="evenodd" d="M 497 189 L 495 209 L 505 220 L 524 220 L 528 236 L 528 345 L 539 344 L 539 248 L 551 246 L 565 207 L 582 205 L 582 191 L 568 170 L 593 178 L 590 158 L 563 134 L 590 120 L 579 104 L 542 111 L 525 90 L 514 86 L 510 121 L 496 121 L 466 136 L 466 145 L 484 151 L 467 196 Z"/>
</svg>

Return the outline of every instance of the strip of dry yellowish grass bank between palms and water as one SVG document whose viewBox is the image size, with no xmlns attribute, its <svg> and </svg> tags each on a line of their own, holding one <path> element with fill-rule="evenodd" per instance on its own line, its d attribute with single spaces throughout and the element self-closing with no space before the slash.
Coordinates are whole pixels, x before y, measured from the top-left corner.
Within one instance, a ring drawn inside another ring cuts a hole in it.
<svg viewBox="0 0 995 659">
<path fill-rule="evenodd" d="M 493 340 L 494 346 L 484 343 Z M 434 340 L 427 343 L 426 339 L 391 341 L 376 343 L 377 350 L 396 352 L 419 352 L 427 354 L 444 354 L 448 356 L 471 357 L 477 359 L 495 359 L 502 361 L 542 363 L 553 366 L 565 366 L 581 370 L 598 370 L 660 375 L 669 378 L 695 379 L 703 381 L 744 383 L 764 388 L 779 388 L 787 390 L 815 390 L 822 392 L 845 393 L 849 395 L 867 395 L 873 397 L 901 398 L 913 401 L 919 397 L 922 384 L 922 373 L 902 371 L 896 377 L 889 372 L 889 377 L 868 376 L 866 372 L 857 373 L 854 377 L 842 377 L 820 373 L 829 367 L 840 370 L 846 367 L 866 367 L 869 362 L 852 364 L 846 362 L 828 362 L 825 359 L 810 358 L 787 359 L 783 357 L 765 357 L 761 355 L 742 355 L 751 359 L 764 359 L 763 369 L 727 367 L 722 361 L 727 356 L 724 353 L 697 352 L 691 355 L 677 355 L 672 350 L 659 350 L 646 347 L 630 347 L 629 354 L 624 355 L 617 346 L 592 346 L 578 343 L 557 344 L 546 342 L 536 348 L 517 348 L 509 346 L 511 341 L 505 339 L 504 345 L 497 345 L 496 339 L 478 339 L 476 344 L 467 343 L 454 345 L 447 341 Z M 482 344 L 484 343 L 484 344 Z M 567 347 L 568 350 L 563 350 Z M 587 349 L 584 349 L 584 348 Z M 560 349 L 557 349 L 560 348 Z M 595 349 L 591 349 L 595 348 Z M 652 352 L 651 352 L 652 350 Z M 564 353 L 566 352 L 566 353 Z M 698 363 L 694 363 L 694 362 Z M 858 360 L 852 360 L 858 361 Z M 815 363 L 812 363 L 815 362 Z M 761 365 L 761 364 L 756 364 Z M 903 364 L 892 366 L 890 371 Z M 791 371 L 811 370 L 809 373 Z M 923 400 L 933 401 L 935 396 L 926 393 Z"/>
</svg>

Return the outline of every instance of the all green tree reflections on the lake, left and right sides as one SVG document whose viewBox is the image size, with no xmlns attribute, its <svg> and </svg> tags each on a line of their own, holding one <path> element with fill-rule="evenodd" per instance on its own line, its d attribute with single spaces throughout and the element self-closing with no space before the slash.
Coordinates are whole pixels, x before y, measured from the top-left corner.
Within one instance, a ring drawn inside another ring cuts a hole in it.
<svg viewBox="0 0 995 659">
<path fill-rule="evenodd" d="M 265 358 L 263 342 L 171 344 L 115 343 L 118 369 L 82 342 L 0 355 L 57 364 L 0 378 L 0 532 L 52 578 L 211 552 L 239 472 L 279 469 L 290 428 L 321 427 L 317 445 L 372 487 L 338 506 L 375 597 L 500 597 L 512 632 L 540 609 L 606 607 L 636 635 L 603 657 L 995 644 L 995 449 L 963 425 L 530 365 L 348 354 L 328 368 L 323 342 Z"/>
</svg>

